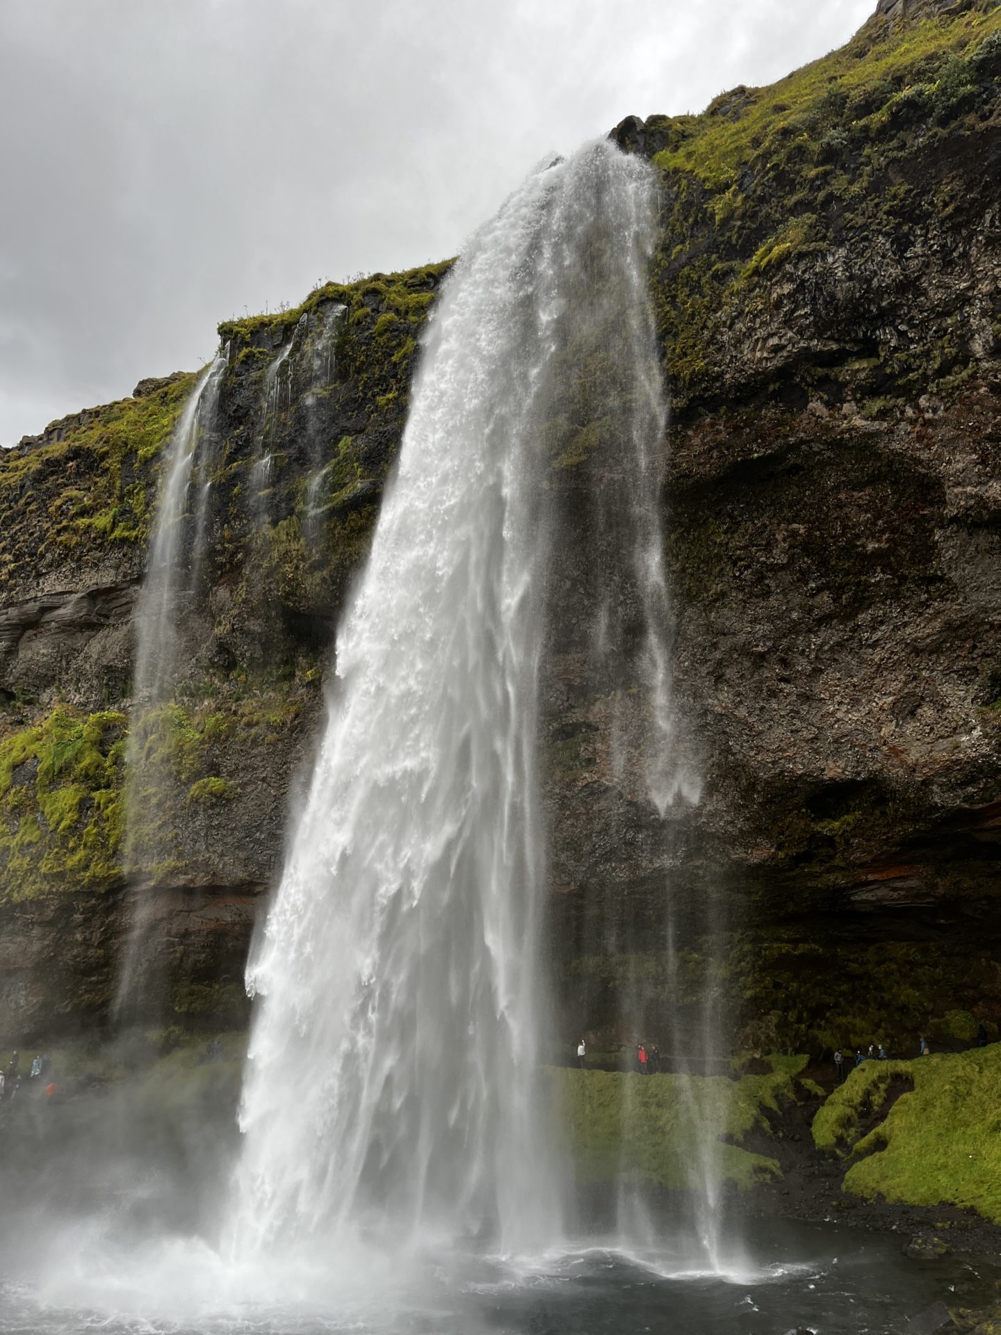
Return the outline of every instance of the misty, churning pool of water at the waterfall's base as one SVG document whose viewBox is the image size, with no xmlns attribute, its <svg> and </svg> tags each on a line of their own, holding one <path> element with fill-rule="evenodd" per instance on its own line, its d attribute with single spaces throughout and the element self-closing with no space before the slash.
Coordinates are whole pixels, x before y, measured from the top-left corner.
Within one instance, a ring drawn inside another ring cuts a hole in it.
<svg viewBox="0 0 1001 1335">
<path fill-rule="evenodd" d="M 175 1263 L 178 1258 L 174 1258 Z M 0 1331 L 17 1335 L 894 1335 L 945 1300 L 976 1306 L 1001 1272 L 990 1260 L 914 1262 L 901 1239 L 827 1226 L 757 1228 L 713 1272 L 667 1247 L 582 1244 L 531 1263 L 450 1254 L 419 1264 L 339 1259 L 339 1276 L 268 1288 L 206 1282 L 200 1260 L 143 1278 L 79 1258 L 39 1283 L 0 1279 Z M 89 1263 L 88 1263 L 89 1264 Z M 174 1271 L 174 1279 L 164 1276 Z M 187 1278 L 190 1276 L 190 1279 Z M 347 1278 L 346 1278 L 347 1276 Z M 148 1286 L 148 1287 L 144 1287 Z"/>
</svg>

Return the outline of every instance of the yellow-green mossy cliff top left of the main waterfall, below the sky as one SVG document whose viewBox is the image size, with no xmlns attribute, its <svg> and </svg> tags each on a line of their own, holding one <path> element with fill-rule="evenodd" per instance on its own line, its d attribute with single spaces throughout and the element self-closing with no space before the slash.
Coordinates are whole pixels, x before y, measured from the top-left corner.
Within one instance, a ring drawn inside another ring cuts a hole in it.
<svg viewBox="0 0 1001 1335">
<path fill-rule="evenodd" d="M 350 411 L 399 429 L 420 326 L 451 263 L 327 283 L 294 308 L 223 322 L 231 380 L 252 387 L 303 316 L 343 306 L 335 354 Z M 32 582 L 108 554 L 141 566 L 161 451 L 196 378 L 144 380 L 132 398 L 49 423 L 0 453 L 0 593 L 25 589 L 25 562 Z"/>
</svg>

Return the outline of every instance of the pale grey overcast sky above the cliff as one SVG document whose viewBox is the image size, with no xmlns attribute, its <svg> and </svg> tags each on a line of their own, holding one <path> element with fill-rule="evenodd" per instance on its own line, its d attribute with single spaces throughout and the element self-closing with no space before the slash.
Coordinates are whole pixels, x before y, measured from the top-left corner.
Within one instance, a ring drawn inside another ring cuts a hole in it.
<svg viewBox="0 0 1001 1335">
<path fill-rule="evenodd" d="M 442 259 L 527 171 L 876 0 L 0 0 L 0 443 L 220 319 Z"/>
</svg>

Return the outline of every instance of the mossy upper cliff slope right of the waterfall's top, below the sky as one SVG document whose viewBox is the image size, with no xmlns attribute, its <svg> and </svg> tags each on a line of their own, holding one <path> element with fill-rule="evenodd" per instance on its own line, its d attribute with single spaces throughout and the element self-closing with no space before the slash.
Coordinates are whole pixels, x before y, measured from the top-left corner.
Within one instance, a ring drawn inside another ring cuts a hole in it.
<svg viewBox="0 0 1001 1335">
<path fill-rule="evenodd" d="M 654 296 L 675 410 L 779 376 L 805 403 L 853 359 L 868 363 L 846 375 L 856 396 L 945 392 L 996 355 L 997 312 L 957 330 L 962 312 L 929 299 L 925 319 L 932 283 L 914 270 L 976 244 L 1000 124 L 997 0 L 877 15 L 767 88 L 735 88 L 699 116 L 622 121 L 617 142 L 662 178 Z"/>
</svg>

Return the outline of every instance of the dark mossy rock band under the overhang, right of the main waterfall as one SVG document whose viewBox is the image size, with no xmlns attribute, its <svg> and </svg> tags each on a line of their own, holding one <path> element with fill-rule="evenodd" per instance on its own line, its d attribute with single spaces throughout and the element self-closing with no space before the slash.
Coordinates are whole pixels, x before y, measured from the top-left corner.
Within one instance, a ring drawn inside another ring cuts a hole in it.
<svg viewBox="0 0 1001 1335">
<path fill-rule="evenodd" d="M 774 909 L 769 908 L 774 922 Z M 577 955 L 562 987 L 582 988 L 593 1027 L 614 1033 L 622 997 L 642 999 L 645 1032 L 695 1025 L 710 1004 L 733 1025 L 737 1048 L 757 1053 L 809 1052 L 830 1061 L 836 1048 L 916 1052 L 918 1033 L 933 1045 L 969 1043 L 992 1020 L 1001 993 L 990 952 L 962 937 L 850 943 L 818 922 L 767 925 L 701 939 L 667 952 Z"/>
</svg>

